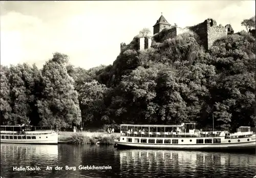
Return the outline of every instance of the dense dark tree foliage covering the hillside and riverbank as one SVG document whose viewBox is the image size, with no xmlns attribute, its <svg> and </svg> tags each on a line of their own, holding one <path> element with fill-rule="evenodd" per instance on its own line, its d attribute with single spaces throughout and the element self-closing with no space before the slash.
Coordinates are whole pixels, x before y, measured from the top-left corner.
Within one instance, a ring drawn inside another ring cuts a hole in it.
<svg viewBox="0 0 256 178">
<path fill-rule="evenodd" d="M 255 126 L 255 39 L 249 33 L 222 37 L 208 51 L 192 32 L 161 36 L 145 51 L 137 50 L 137 36 L 113 65 L 90 70 L 59 53 L 42 70 L 1 66 L 1 124 L 196 122 L 210 129 L 214 118 L 216 129 Z"/>
</svg>

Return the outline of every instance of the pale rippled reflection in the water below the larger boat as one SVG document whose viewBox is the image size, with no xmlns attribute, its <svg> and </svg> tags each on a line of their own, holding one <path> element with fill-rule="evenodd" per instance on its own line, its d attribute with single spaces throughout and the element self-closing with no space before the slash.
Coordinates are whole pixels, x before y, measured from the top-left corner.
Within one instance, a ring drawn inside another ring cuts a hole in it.
<svg viewBox="0 0 256 178">
<path fill-rule="evenodd" d="M 120 176 L 253 177 L 256 172 L 254 154 L 170 150 L 120 150 L 119 154 Z"/>
</svg>

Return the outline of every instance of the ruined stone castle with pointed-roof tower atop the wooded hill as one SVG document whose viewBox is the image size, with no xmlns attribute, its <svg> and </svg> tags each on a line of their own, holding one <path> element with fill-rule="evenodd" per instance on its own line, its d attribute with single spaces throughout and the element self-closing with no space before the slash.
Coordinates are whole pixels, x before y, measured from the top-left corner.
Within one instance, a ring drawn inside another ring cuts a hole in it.
<svg viewBox="0 0 256 178">
<path fill-rule="evenodd" d="M 228 24 L 225 27 L 222 25 L 218 26 L 217 22 L 212 18 L 208 18 L 204 20 L 202 23 L 191 27 L 180 28 L 177 26 L 172 26 L 168 23 L 168 21 L 164 18 L 162 14 L 160 18 L 157 20 L 156 24 L 153 26 L 153 28 L 154 36 L 159 34 L 159 32 L 161 32 L 163 29 L 166 29 L 167 38 L 175 38 L 179 34 L 192 31 L 198 35 L 201 41 L 201 45 L 206 50 L 210 49 L 217 39 L 221 38 L 222 36 L 234 33 L 231 25 Z M 138 50 L 141 51 L 151 47 L 152 39 L 151 37 L 139 37 L 137 42 Z M 123 44 L 125 43 L 121 43 L 121 49 L 124 47 Z"/>
</svg>

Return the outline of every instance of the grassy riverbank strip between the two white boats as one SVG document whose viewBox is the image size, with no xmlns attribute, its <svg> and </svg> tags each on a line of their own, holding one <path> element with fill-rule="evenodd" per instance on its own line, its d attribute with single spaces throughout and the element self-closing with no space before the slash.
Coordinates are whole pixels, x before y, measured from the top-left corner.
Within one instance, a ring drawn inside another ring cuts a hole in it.
<svg viewBox="0 0 256 178">
<path fill-rule="evenodd" d="M 119 138 L 120 133 L 104 133 L 104 132 L 69 132 L 63 131 L 59 133 L 58 141 L 70 144 L 114 144 L 114 139 Z"/>
</svg>

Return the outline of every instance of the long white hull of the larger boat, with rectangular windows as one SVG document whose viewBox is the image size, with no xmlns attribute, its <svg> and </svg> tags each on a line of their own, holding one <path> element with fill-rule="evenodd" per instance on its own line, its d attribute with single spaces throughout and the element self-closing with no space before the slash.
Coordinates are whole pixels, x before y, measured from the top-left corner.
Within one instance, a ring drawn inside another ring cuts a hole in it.
<svg viewBox="0 0 256 178">
<path fill-rule="evenodd" d="M 126 140 L 132 139 L 132 142 Z M 178 143 L 135 143 L 135 139 L 156 139 L 156 140 L 178 140 Z M 247 138 L 225 139 L 220 137 L 220 143 L 197 143 L 197 140 L 207 140 L 215 138 L 131 138 L 120 137 L 115 140 L 114 147 L 117 148 L 137 148 L 137 149 L 185 149 L 185 150 L 256 150 L 255 134 Z"/>
</svg>

